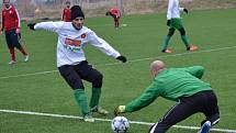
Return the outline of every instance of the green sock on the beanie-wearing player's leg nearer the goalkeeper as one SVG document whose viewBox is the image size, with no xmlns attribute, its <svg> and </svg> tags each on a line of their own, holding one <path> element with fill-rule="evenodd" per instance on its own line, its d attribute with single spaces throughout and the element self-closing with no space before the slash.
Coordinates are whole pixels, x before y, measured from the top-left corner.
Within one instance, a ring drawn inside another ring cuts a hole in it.
<svg viewBox="0 0 236 133">
<path fill-rule="evenodd" d="M 92 96 L 89 104 L 91 108 L 99 104 L 100 96 L 101 96 L 101 88 L 92 88 Z"/>
</svg>

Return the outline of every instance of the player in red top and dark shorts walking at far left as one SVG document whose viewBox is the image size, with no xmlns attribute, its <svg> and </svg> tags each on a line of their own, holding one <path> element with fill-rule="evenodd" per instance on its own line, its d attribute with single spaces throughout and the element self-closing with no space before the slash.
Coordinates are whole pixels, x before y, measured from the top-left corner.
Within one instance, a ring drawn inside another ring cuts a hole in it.
<svg viewBox="0 0 236 133">
<path fill-rule="evenodd" d="M 19 42 L 21 38 L 21 20 L 18 10 L 10 4 L 10 0 L 3 0 L 3 5 L 1 34 L 4 31 L 5 41 L 11 54 L 11 60 L 9 64 L 15 63 L 14 47 L 16 47 L 24 55 L 24 62 L 27 62 L 29 54 Z"/>
</svg>

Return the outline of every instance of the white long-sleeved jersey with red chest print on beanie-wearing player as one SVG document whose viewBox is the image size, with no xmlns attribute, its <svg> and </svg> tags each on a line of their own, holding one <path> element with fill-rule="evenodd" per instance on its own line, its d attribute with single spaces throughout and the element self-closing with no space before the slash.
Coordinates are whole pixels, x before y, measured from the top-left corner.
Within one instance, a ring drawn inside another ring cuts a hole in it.
<svg viewBox="0 0 236 133">
<path fill-rule="evenodd" d="M 91 44 L 109 56 L 116 58 L 121 54 L 110 46 L 104 40 L 97 36 L 90 29 L 82 26 L 76 30 L 71 22 L 42 22 L 34 26 L 35 30 L 48 30 L 58 34 L 57 67 L 77 65 L 86 60 L 83 47 Z"/>
</svg>

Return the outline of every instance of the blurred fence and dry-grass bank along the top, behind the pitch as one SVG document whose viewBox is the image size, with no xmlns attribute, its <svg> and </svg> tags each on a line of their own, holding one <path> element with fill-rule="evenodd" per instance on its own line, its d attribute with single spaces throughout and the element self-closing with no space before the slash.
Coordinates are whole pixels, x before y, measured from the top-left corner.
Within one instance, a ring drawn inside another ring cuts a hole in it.
<svg viewBox="0 0 236 133">
<path fill-rule="evenodd" d="M 168 0 L 70 0 L 82 7 L 86 16 L 101 16 L 111 9 L 119 8 L 122 14 L 166 11 Z M 65 0 L 11 0 L 22 19 L 60 18 Z M 236 7 L 236 0 L 180 0 L 191 8 Z M 2 0 L 0 0 L 2 3 Z M 199 4 L 199 5 L 198 5 Z M 201 5 L 200 5 L 201 4 Z M 205 9 L 205 8 L 204 8 Z"/>
</svg>

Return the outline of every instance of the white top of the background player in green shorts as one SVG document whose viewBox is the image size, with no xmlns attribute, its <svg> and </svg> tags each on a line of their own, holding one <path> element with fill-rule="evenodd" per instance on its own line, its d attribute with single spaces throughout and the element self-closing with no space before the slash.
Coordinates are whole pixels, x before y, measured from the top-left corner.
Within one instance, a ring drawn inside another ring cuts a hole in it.
<svg viewBox="0 0 236 133">
<path fill-rule="evenodd" d="M 180 18 L 180 11 L 183 11 L 183 8 L 180 8 L 179 0 L 169 0 L 167 20 Z"/>
</svg>

